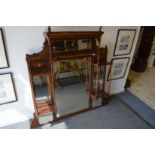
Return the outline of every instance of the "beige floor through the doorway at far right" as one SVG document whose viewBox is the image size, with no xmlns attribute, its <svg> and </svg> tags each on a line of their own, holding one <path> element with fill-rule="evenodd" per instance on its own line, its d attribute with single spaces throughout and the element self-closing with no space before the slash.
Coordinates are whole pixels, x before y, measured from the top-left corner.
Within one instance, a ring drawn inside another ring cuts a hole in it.
<svg viewBox="0 0 155 155">
<path fill-rule="evenodd" d="M 131 87 L 128 90 L 155 110 L 155 66 L 144 73 L 130 71 Z"/>
</svg>

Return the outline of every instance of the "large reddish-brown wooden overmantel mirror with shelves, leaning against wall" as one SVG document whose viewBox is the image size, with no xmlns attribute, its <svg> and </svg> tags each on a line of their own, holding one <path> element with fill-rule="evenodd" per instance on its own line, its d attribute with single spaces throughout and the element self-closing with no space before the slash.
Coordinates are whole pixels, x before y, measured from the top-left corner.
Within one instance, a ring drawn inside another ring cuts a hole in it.
<svg viewBox="0 0 155 155">
<path fill-rule="evenodd" d="M 26 55 L 35 107 L 32 127 L 104 105 L 107 47 L 102 31 L 44 33 L 41 52 Z M 111 67 L 109 67 L 111 68 Z"/>
</svg>

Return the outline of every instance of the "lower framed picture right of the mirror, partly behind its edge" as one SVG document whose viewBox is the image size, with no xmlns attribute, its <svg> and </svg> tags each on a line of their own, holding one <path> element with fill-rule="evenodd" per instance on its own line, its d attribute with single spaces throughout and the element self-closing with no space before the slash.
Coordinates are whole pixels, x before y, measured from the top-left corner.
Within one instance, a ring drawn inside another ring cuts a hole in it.
<svg viewBox="0 0 155 155">
<path fill-rule="evenodd" d="M 129 57 L 112 59 L 112 68 L 111 71 L 109 71 L 108 81 L 124 78 L 129 60 Z"/>
</svg>

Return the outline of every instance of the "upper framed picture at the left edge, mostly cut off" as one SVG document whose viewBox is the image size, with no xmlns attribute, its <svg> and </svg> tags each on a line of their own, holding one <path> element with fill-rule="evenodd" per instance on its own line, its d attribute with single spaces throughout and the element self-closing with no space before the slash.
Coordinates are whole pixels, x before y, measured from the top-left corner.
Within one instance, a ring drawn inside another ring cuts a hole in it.
<svg viewBox="0 0 155 155">
<path fill-rule="evenodd" d="M 0 69 L 8 68 L 8 59 L 4 42 L 3 30 L 0 28 Z"/>
</svg>

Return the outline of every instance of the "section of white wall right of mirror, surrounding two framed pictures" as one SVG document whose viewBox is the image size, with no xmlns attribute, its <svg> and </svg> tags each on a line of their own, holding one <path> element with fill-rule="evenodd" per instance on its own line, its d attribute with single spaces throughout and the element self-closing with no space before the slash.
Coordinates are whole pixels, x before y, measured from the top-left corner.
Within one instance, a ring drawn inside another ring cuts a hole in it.
<svg viewBox="0 0 155 155">
<path fill-rule="evenodd" d="M 135 35 L 135 39 L 133 42 L 133 46 L 132 46 L 130 55 L 113 57 L 118 29 L 136 29 L 136 35 Z M 129 65 L 128 65 L 125 77 L 122 79 L 111 81 L 110 93 L 116 94 L 116 93 L 124 91 L 124 86 L 125 86 L 125 82 L 126 82 L 128 73 L 129 73 L 130 65 L 132 63 L 133 54 L 136 49 L 139 32 L 140 32 L 140 27 L 137 27 L 137 26 L 112 26 L 112 27 L 105 26 L 102 28 L 102 31 L 104 31 L 104 35 L 102 37 L 102 45 L 107 44 L 108 50 L 109 50 L 108 61 L 111 61 L 112 58 L 130 57 L 130 61 L 129 61 Z M 107 75 L 108 75 L 108 72 L 109 72 L 109 69 L 107 69 Z M 106 79 L 107 79 L 107 77 L 106 77 Z M 106 84 L 107 84 L 106 90 L 108 90 L 109 84 L 108 84 L 108 82 Z"/>
</svg>

